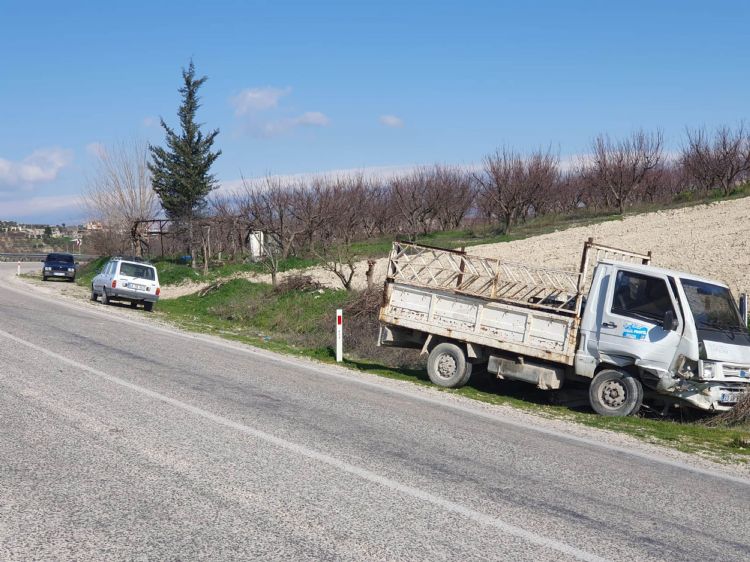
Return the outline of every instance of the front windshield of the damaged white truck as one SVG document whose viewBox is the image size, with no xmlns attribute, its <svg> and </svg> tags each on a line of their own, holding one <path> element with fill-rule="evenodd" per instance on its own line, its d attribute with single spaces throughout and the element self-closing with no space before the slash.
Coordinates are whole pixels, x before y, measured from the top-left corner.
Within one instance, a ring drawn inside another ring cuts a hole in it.
<svg viewBox="0 0 750 562">
<path fill-rule="evenodd" d="M 680 282 L 697 328 L 745 328 L 729 289 L 692 279 L 680 279 Z"/>
</svg>

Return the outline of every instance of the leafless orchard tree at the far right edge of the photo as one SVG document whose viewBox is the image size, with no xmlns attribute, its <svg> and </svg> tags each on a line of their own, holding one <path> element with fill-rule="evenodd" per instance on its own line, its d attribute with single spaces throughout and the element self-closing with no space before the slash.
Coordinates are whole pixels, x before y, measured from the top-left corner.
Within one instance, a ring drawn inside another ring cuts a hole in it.
<svg viewBox="0 0 750 562">
<path fill-rule="evenodd" d="M 742 123 L 736 129 L 720 127 L 713 137 L 705 129 L 688 129 L 680 160 L 700 188 L 730 195 L 750 172 L 750 133 Z"/>
</svg>

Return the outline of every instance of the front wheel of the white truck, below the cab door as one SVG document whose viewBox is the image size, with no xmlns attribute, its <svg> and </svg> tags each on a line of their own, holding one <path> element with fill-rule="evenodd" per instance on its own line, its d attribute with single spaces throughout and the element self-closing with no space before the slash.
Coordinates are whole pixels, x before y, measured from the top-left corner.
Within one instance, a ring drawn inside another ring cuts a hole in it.
<svg viewBox="0 0 750 562">
<path fill-rule="evenodd" d="M 630 373 L 604 369 L 591 381 L 589 401 L 602 416 L 629 416 L 641 409 L 643 386 Z"/>
</svg>

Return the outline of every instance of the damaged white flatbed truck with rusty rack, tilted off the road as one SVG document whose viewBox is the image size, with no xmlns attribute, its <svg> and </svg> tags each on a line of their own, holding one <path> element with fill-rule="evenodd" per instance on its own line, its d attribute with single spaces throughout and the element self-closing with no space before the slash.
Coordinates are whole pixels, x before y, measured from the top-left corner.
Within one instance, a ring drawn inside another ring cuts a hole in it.
<svg viewBox="0 0 750 562">
<path fill-rule="evenodd" d="M 428 354 L 430 380 L 465 385 L 486 364 L 541 389 L 589 383 L 602 415 L 665 406 L 732 408 L 750 389 L 747 319 L 729 287 L 595 244 L 578 271 L 395 242 L 378 345 Z"/>
</svg>

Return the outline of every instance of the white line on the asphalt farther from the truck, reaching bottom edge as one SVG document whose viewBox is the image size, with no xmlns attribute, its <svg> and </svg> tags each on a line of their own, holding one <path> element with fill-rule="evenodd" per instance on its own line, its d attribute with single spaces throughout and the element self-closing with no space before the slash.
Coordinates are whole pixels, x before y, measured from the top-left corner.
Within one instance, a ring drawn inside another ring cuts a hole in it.
<svg viewBox="0 0 750 562">
<path fill-rule="evenodd" d="M 606 560 L 605 558 L 601 558 L 585 550 L 575 548 L 573 546 L 567 545 L 555 539 L 544 537 L 532 531 L 528 531 L 524 529 L 523 527 L 519 527 L 517 525 L 507 523 L 503 521 L 502 519 L 498 519 L 497 517 L 493 517 L 491 515 L 487 515 L 485 513 L 475 511 L 464 505 L 452 502 L 440 496 L 436 496 L 435 494 L 431 494 L 430 492 L 426 492 L 419 488 L 415 488 L 414 486 L 402 484 L 401 482 L 398 482 L 391 478 L 381 476 L 379 474 L 376 474 L 374 472 L 367 470 L 366 468 L 362 468 L 362 467 L 350 464 L 348 462 L 337 459 L 336 457 L 333 457 L 331 455 L 327 455 L 325 453 L 321 453 L 314 449 L 310 449 L 309 447 L 305 447 L 304 445 L 300 445 L 292 441 L 287 441 L 286 439 L 281 439 L 280 437 L 276 437 L 275 435 L 272 435 L 265 431 L 250 427 L 249 425 L 245 425 L 242 423 L 232 421 L 223 416 L 219 416 L 217 414 L 209 412 L 208 410 L 204 410 L 203 408 L 198 408 L 197 406 L 193 406 L 191 404 L 187 404 L 175 398 L 171 398 L 165 394 L 161 394 L 159 392 L 150 390 L 144 386 L 126 381 L 125 379 L 121 379 L 120 377 L 109 375 L 105 373 L 104 371 L 94 369 L 93 367 L 89 367 L 88 365 L 85 365 L 73 359 L 69 359 L 63 355 L 60 355 L 59 353 L 56 353 L 54 351 L 51 351 L 39 345 L 33 344 L 31 342 L 22 340 L 21 338 L 18 338 L 12 334 L 9 334 L 8 332 L 4 330 L 0 330 L 0 335 L 20 345 L 33 349 L 34 351 L 47 355 L 48 357 L 51 357 L 57 361 L 66 363 L 70 365 L 71 367 L 80 369 L 82 371 L 86 371 L 87 373 L 90 373 L 92 375 L 105 379 L 111 383 L 128 388 L 134 392 L 138 392 L 140 394 L 143 394 L 155 400 L 165 402 L 167 404 L 174 406 L 175 408 L 179 408 L 186 412 L 190 412 L 191 414 L 210 420 L 218 425 L 222 425 L 224 427 L 237 430 L 247 435 L 251 435 L 257 439 L 261 439 L 263 441 L 276 445 L 277 447 L 286 449 L 287 451 L 290 451 L 292 453 L 296 453 L 300 456 L 316 460 L 318 462 L 321 462 L 323 464 L 336 468 L 342 472 L 347 472 L 363 480 L 367 480 L 374 484 L 378 484 L 380 486 L 388 488 L 394 492 L 399 492 L 401 494 L 411 496 L 412 498 L 422 500 L 427 503 L 431 503 L 432 505 L 440 507 L 446 511 L 459 514 L 463 517 L 466 517 L 467 519 L 471 519 L 473 521 L 476 521 L 477 523 L 481 523 L 482 525 L 494 527 L 495 529 L 502 531 L 503 533 L 507 533 L 509 535 L 513 535 L 515 537 L 521 538 L 531 544 L 540 546 L 542 548 L 549 548 L 557 552 L 560 552 L 562 554 L 567 554 L 569 556 L 577 558 L 578 560 L 585 560 L 585 561 L 590 561 L 590 562 L 603 562 Z"/>
</svg>

